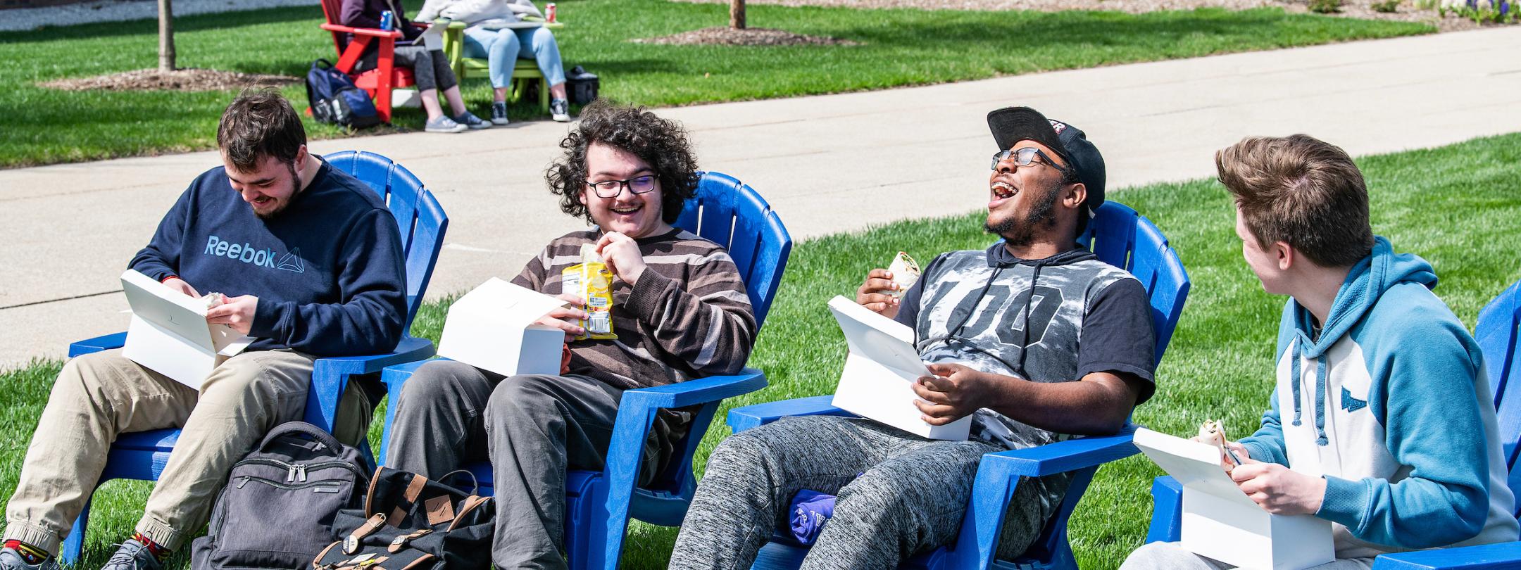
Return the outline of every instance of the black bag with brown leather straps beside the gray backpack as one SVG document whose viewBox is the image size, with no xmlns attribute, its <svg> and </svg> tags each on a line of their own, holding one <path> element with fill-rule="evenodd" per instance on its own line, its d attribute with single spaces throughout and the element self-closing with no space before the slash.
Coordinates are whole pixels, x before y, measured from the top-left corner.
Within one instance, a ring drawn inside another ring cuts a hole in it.
<svg viewBox="0 0 1521 570">
<path fill-rule="evenodd" d="M 456 471 L 458 473 L 458 471 Z M 447 476 L 446 476 L 447 477 Z M 415 473 L 376 470 L 364 509 L 338 512 L 316 570 L 485 570 L 496 503 Z"/>
</svg>

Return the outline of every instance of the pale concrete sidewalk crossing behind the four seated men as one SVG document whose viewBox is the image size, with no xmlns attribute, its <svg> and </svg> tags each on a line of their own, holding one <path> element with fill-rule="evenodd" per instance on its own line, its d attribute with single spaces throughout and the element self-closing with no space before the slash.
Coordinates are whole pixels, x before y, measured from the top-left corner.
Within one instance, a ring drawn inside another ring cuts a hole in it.
<svg viewBox="0 0 1521 570">
<path fill-rule="evenodd" d="M 806 239 L 980 208 L 993 108 L 1083 128 L 1122 188 L 1211 176 L 1214 150 L 1246 135 L 1308 132 L 1363 155 L 1521 131 L 1516 53 L 1521 29 L 1504 27 L 660 114 L 692 131 L 704 169 L 754 185 Z M 564 132 L 535 122 L 312 146 L 379 152 L 432 188 L 450 214 L 437 298 L 516 275 L 581 226 L 543 182 Z M 0 368 L 123 330 L 117 277 L 190 179 L 219 164 L 198 152 L 0 170 Z"/>
</svg>

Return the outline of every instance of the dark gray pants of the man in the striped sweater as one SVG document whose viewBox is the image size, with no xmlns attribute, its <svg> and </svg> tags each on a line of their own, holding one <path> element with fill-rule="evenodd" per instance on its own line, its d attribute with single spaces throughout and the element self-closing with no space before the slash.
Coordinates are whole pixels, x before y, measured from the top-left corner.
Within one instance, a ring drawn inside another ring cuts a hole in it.
<svg viewBox="0 0 1521 570">
<path fill-rule="evenodd" d="M 601 470 L 622 391 L 583 375 L 502 377 L 433 360 L 402 388 L 388 467 L 430 479 L 490 461 L 497 568 L 564 568 L 566 470 Z M 645 476 L 657 467 L 646 444 Z"/>
</svg>

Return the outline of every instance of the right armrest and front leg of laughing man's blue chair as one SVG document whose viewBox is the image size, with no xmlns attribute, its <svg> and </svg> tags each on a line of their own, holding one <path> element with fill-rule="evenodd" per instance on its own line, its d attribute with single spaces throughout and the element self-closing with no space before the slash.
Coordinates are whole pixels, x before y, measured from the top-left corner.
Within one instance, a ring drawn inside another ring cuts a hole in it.
<svg viewBox="0 0 1521 570">
<path fill-rule="evenodd" d="M 1066 473 L 1139 453 L 1132 436 L 1136 426 L 1126 424 L 1119 433 L 1088 436 L 1024 450 L 983 454 L 972 482 L 972 505 L 961 520 L 961 535 L 952 552 L 952 568 L 987 568 L 998 555 L 998 532 L 1004 526 L 1008 500 L 1019 486 L 1019 477 L 1043 477 Z"/>
</svg>

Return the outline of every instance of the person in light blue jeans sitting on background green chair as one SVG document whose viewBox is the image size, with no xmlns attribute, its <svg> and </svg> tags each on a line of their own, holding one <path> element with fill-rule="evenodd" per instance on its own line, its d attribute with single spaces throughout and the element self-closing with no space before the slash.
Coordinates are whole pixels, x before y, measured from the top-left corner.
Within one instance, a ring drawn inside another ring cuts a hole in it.
<svg viewBox="0 0 1521 570">
<path fill-rule="evenodd" d="M 464 21 L 465 58 L 487 58 L 487 74 L 491 78 L 491 122 L 506 125 L 506 90 L 513 84 L 513 67 L 517 59 L 534 59 L 549 84 L 549 116 L 558 122 L 570 120 L 570 102 L 566 99 L 566 71 L 560 64 L 560 44 L 548 27 L 502 27 L 522 21 L 523 15 L 543 18 L 529 0 L 427 0 L 417 12 L 417 20 L 433 21 L 440 17 Z"/>
</svg>

